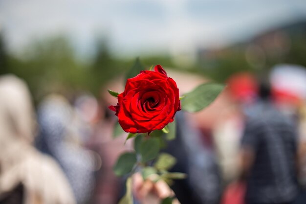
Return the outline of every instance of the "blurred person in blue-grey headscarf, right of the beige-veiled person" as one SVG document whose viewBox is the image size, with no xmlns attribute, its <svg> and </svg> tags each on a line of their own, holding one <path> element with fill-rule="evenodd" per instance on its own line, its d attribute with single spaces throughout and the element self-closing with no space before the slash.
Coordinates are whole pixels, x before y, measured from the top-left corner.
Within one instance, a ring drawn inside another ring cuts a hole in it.
<svg viewBox="0 0 306 204">
<path fill-rule="evenodd" d="M 77 204 L 87 203 L 94 188 L 94 155 L 83 147 L 82 124 L 61 95 L 49 95 L 38 108 L 37 147 L 56 159 L 72 187 Z"/>
</svg>

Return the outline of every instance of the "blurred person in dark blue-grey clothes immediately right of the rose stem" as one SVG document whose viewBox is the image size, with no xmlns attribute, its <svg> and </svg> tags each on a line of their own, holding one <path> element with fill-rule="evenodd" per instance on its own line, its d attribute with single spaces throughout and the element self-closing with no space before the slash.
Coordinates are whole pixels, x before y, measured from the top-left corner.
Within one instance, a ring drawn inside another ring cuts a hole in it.
<svg viewBox="0 0 306 204">
<path fill-rule="evenodd" d="M 181 204 L 218 204 L 220 176 L 214 153 L 203 145 L 200 131 L 190 124 L 183 112 L 175 114 L 176 138 L 165 152 L 177 159 L 171 172 L 188 176 L 175 180 L 171 188 Z"/>
</svg>

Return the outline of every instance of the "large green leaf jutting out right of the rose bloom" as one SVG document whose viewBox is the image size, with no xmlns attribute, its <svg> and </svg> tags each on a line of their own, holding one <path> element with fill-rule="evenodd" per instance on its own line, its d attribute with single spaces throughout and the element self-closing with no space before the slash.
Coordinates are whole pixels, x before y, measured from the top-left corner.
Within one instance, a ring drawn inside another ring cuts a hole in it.
<svg viewBox="0 0 306 204">
<path fill-rule="evenodd" d="M 216 83 L 201 84 L 193 91 L 186 93 L 181 100 L 182 110 L 195 113 L 211 104 L 224 89 Z"/>
</svg>

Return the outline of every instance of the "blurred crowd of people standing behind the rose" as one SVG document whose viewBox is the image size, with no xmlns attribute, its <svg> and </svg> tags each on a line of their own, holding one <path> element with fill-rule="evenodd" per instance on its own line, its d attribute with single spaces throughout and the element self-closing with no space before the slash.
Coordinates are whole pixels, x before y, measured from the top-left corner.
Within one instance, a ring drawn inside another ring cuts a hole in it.
<svg viewBox="0 0 306 204">
<path fill-rule="evenodd" d="M 206 80 L 171 75 L 181 93 Z M 54 92 L 34 107 L 22 79 L 0 76 L 0 204 L 118 203 L 124 179 L 112 166 L 132 145 L 126 133 L 113 137 L 105 92 Z M 176 203 L 305 204 L 306 68 L 233 74 L 210 107 L 175 120 L 176 138 L 163 151 L 177 159 L 171 171 L 188 174 L 171 186 Z M 135 189 L 135 203 L 159 202 Z"/>
</svg>

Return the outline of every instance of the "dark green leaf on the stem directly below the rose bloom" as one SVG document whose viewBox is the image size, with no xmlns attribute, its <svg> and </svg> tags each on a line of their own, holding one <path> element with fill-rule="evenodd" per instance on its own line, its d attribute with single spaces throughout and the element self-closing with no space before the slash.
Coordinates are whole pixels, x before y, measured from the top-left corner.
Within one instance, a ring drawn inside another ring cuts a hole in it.
<svg viewBox="0 0 306 204">
<path fill-rule="evenodd" d="M 141 161 L 147 162 L 154 159 L 159 152 L 159 140 L 157 137 L 150 137 L 144 140 L 140 146 Z"/>
</svg>

